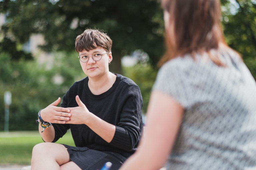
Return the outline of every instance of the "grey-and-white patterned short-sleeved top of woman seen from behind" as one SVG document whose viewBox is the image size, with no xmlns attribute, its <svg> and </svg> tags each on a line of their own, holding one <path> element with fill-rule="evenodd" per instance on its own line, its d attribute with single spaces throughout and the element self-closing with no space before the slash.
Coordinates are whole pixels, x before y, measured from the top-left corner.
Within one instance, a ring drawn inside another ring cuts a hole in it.
<svg viewBox="0 0 256 170">
<path fill-rule="evenodd" d="M 219 58 L 226 67 L 205 54 L 174 58 L 159 70 L 153 89 L 185 110 L 167 169 L 256 169 L 255 80 L 234 51 Z"/>
</svg>

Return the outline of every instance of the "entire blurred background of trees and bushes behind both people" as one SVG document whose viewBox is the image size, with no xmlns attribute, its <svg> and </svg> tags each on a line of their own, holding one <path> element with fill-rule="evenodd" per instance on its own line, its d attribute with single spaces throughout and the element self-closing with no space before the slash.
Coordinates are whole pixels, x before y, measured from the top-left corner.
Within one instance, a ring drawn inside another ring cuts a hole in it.
<svg viewBox="0 0 256 170">
<path fill-rule="evenodd" d="M 256 0 L 221 0 L 227 43 L 256 78 Z M 165 51 L 158 0 L 0 0 L 0 131 L 37 130 L 40 109 L 84 75 L 74 44 L 87 28 L 113 40 L 110 71 L 139 85 L 143 113 Z M 4 94 L 11 93 L 5 104 Z M 8 106 L 7 106 L 8 105 Z"/>
</svg>

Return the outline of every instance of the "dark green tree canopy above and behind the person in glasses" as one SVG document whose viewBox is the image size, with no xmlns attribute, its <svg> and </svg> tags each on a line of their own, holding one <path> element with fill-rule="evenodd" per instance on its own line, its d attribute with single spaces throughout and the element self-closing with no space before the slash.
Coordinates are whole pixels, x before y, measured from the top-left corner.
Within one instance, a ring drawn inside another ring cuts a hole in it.
<svg viewBox="0 0 256 170">
<path fill-rule="evenodd" d="M 86 28 L 105 30 L 113 40 L 113 72 L 121 72 L 121 56 L 135 49 L 146 51 L 152 63 L 164 51 L 162 10 L 157 0 L 2 0 L 0 11 L 7 21 L 2 26 L 0 48 L 9 53 L 3 44 L 17 49 L 16 44 L 25 43 L 33 33 L 44 35 L 46 42 L 41 47 L 46 51 L 72 51 L 76 36 Z"/>
</svg>

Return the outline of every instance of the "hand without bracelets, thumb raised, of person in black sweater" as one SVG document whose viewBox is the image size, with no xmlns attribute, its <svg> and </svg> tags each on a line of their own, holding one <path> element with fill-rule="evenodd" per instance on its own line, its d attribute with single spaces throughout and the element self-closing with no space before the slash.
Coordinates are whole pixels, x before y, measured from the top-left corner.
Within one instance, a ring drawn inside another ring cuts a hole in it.
<svg viewBox="0 0 256 170">
<path fill-rule="evenodd" d="M 90 118 L 90 115 L 92 113 L 89 112 L 89 110 L 80 100 L 78 95 L 76 96 L 76 102 L 78 104 L 78 107 L 67 108 L 70 110 L 71 117 L 69 121 L 66 121 L 66 123 L 67 124 L 87 124 L 89 120 L 88 118 Z"/>
</svg>

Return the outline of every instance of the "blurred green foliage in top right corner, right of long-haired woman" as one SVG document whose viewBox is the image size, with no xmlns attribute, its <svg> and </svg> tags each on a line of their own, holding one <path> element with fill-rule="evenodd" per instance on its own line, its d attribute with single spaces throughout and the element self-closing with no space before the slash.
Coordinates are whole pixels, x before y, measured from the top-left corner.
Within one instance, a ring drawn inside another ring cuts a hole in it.
<svg viewBox="0 0 256 170">
<path fill-rule="evenodd" d="M 256 79 L 256 1 L 221 0 L 222 24 L 230 47 L 237 50 Z"/>
</svg>

